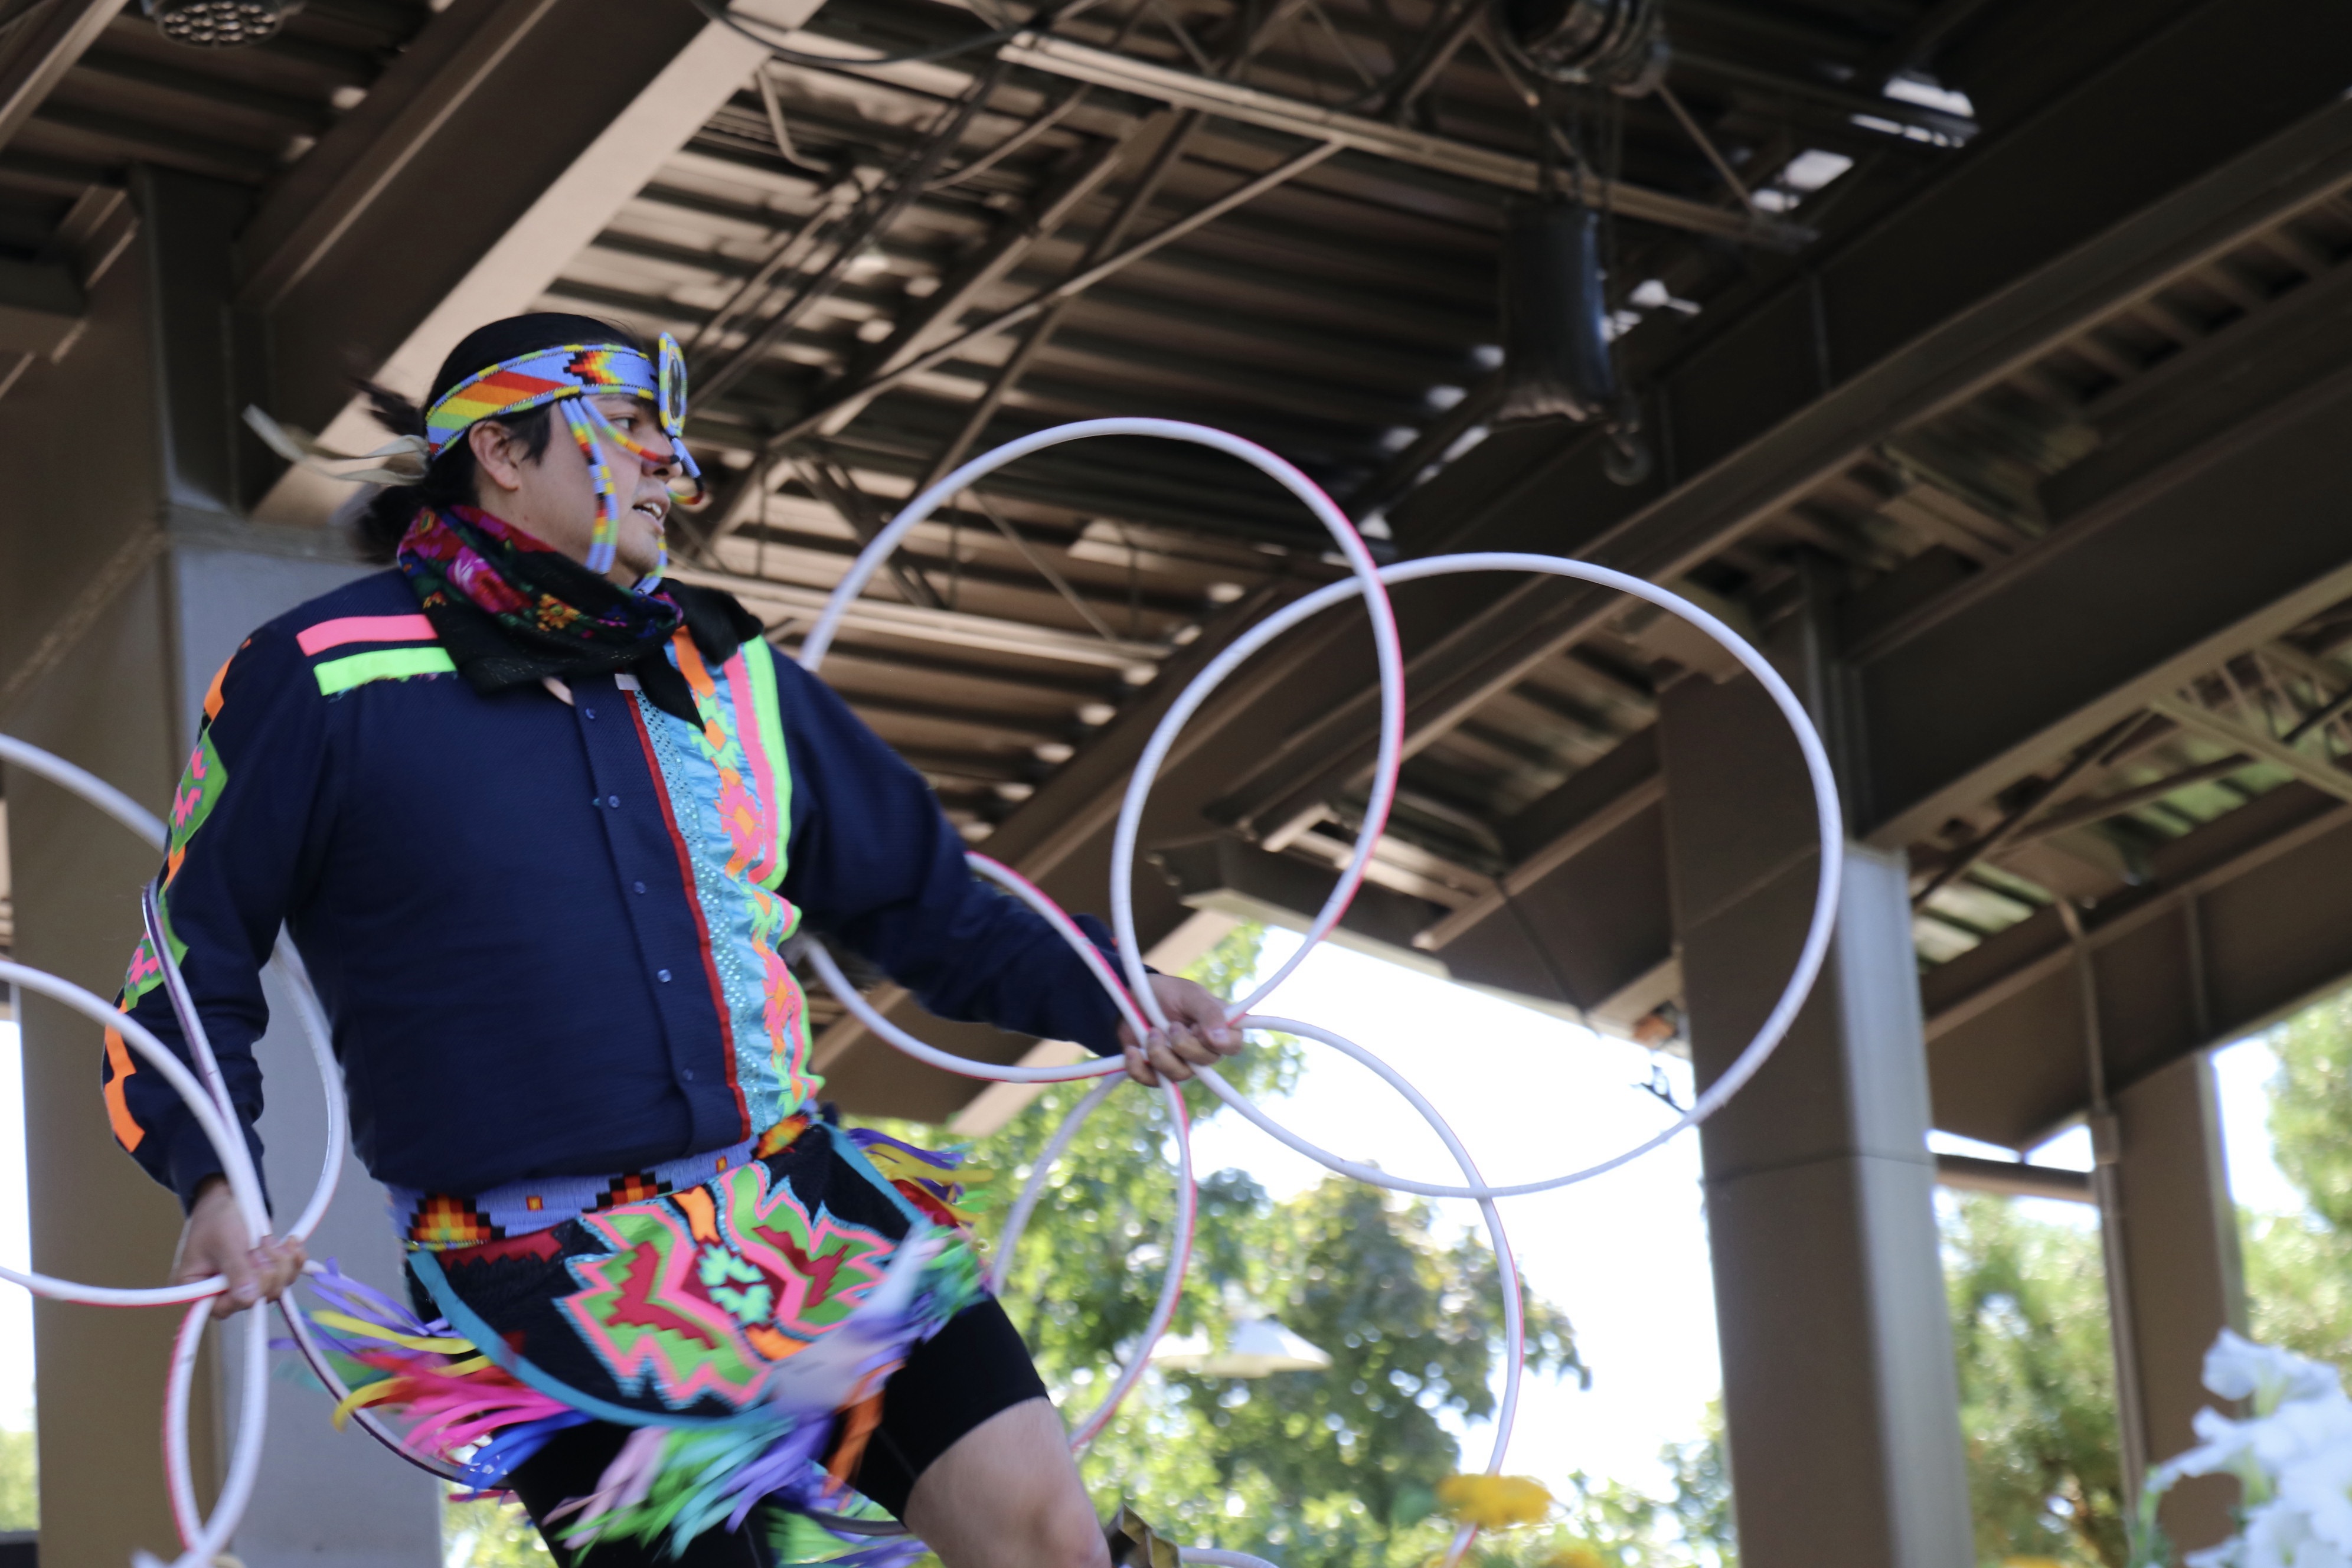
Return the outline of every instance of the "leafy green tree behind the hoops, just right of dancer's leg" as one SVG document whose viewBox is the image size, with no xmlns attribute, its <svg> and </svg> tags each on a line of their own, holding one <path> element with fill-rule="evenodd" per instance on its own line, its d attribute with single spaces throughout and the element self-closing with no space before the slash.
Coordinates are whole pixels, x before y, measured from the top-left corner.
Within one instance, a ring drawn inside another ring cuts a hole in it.
<svg viewBox="0 0 2352 1568">
<path fill-rule="evenodd" d="M 1237 994 L 1258 943 L 1256 929 L 1237 931 L 1195 978 Z M 1272 1041 L 1228 1077 L 1272 1098 L 1296 1072 L 1296 1041 Z M 1049 1088 L 971 1150 L 1000 1173 L 1000 1206 L 1087 1088 Z M 1200 1086 L 1185 1103 L 1195 1119 L 1221 1110 Z M 1115 1093 L 1056 1164 L 1021 1239 L 1007 1307 L 1073 1415 L 1096 1403 L 1160 1293 L 1176 1215 L 1171 1138 L 1162 1095 Z M 981 1222 L 983 1239 L 997 1220 Z M 1202 1180 L 1176 1331 L 1216 1338 L 1235 1305 L 1319 1345 L 1331 1368 L 1148 1378 L 1087 1453 L 1094 1495 L 1103 1507 L 1131 1500 L 1174 1540 L 1287 1568 L 1418 1568 L 1449 1530 L 1432 1512 L 1437 1481 L 1463 1462 L 1442 1413 L 1475 1420 L 1494 1408 L 1501 1279 L 1484 1241 L 1442 1227 L 1428 1204 L 1359 1182 L 1334 1178 L 1275 1204 L 1244 1173 L 1218 1171 Z M 1557 1309 L 1529 1300 L 1526 1319 L 1529 1371 L 1583 1371 Z"/>
</svg>

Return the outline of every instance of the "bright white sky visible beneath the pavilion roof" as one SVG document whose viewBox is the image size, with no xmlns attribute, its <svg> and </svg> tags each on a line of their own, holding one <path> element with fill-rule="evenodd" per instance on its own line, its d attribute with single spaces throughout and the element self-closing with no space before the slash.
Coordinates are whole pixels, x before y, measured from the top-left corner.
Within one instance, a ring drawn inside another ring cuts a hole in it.
<svg viewBox="0 0 2352 1568">
<path fill-rule="evenodd" d="M 1268 969 L 1296 945 L 1268 936 Z M 1519 1182 L 1592 1164 L 1665 1126 L 1670 1112 L 1644 1088 L 1651 1056 L 1508 1001 L 1322 947 L 1265 1011 L 1296 1016 L 1369 1046 L 1437 1105 L 1494 1182 Z M 2272 1058 L 2244 1041 L 2216 1056 L 2230 1182 L 2251 1208 L 2293 1211 L 2296 1190 L 2270 1159 L 2263 1081 Z M 1689 1103 L 1689 1074 L 1672 1063 L 1672 1093 Z M 96 1095 L 92 1095 L 92 1114 Z M 1451 1161 L 1421 1119 L 1364 1067 L 1308 1044 L 1308 1067 L 1275 1114 L 1336 1154 L 1378 1161 L 1425 1180 L 1454 1180 Z M 1938 1135 L 1938 1147 L 1964 1147 Z M 2044 1164 L 2086 1166 L 2089 1140 L 2067 1133 L 2034 1152 Z M 1240 1117 L 1218 1114 L 1195 1138 L 1202 1173 L 1240 1166 L 1275 1197 L 1322 1178 Z M 16 1025 L 0 1023 L 0 1262 L 26 1267 L 24 1100 Z M 2089 1225 L 2082 1204 L 2034 1201 L 2037 1213 Z M 1454 1222 L 1472 1204 L 1444 1206 Z M 1698 1192 L 1698 1138 L 1562 1192 L 1510 1199 L 1503 1220 L 1529 1286 L 1569 1314 L 1592 1387 L 1529 1378 L 1510 1469 L 1559 1483 L 1569 1472 L 1661 1486 L 1658 1448 L 1698 1434 L 1722 1389 L 1715 1300 Z M 0 1284 L 0 1425 L 31 1408 L 31 1305 Z M 1491 1427 L 1463 1432 L 1465 1465 L 1482 1465 Z"/>
</svg>

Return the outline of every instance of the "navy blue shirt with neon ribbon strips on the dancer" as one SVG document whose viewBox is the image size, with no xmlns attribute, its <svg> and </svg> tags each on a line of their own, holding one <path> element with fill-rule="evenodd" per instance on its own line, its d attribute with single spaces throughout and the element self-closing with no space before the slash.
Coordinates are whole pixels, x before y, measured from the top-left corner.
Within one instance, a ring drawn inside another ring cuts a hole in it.
<svg viewBox="0 0 2352 1568">
<path fill-rule="evenodd" d="M 280 922 L 362 1164 L 428 1192 L 637 1171 L 797 1110 L 821 1084 L 779 957 L 802 919 L 943 1018 L 1117 1048 L 1077 954 L 971 877 L 922 776 L 828 686 L 764 642 L 710 670 L 682 644 L 701 726 L 626 675 L 477 693 L 395 571 L 245 642 L 172 802 L 162 903 L 247 1138 Z M 122 1004 L 186 1053 L 143 943 Z M 193 1201 L 219 1161 L 179 1095 L 118 1039 L 103 1091 Z"/>
</svg>

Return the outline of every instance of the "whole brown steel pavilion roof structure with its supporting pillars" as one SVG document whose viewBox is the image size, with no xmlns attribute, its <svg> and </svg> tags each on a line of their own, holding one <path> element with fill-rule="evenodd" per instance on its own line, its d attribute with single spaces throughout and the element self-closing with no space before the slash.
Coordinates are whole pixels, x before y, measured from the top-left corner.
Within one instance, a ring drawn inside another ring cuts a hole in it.
<svg viewBox="0 0 2352 1568">
<path fill-rule="evenodd" d="M 2194 1058 L 2352 980 L 2352 12 L 1656 5 L 1663 75 L 1616 94 L 1524 82 L 1494 0 L 310 0 L 214 54 L 125 0 L 0 0 L 0 724 L 167 799 L 242 628 L 360 569 L 348 487 L 240 411 L 362 451 L 355 378 L 423 393 L 534 306 L 689 346 L 715 484 L 677 571 L 783 649 L 929 477 L 1110 414 L 1272 447 L 1385 555 L 1668 583 L 1795 672 L 1851 839 L 1828 980 L 1700 1135 L 1740 1552 L 1964 1561 L 1931 1182 L 2098 1199 L 2126 1455 L 2178 1450 L 2239 1295 Z M 1604 214 L 1630 397 L 1595 423 L 1498 418 L 1498 254 L 1543 186 Z M 1101 910 L 1157 717 L 1336 571 L 1228 458 L 1054 449 L 917 531 L 826 677 L 969 842 Z M 1395 607 L 1409 762 L 1341 938 L 1712 1079 L 1818 856 L 1752 689 L 1562 578 Z M 1371 764 L 1364 630 L 1296 628 L 1167 759 L 1131 867 L 1162 961 L 1324 900 Z M 9 778 L 0 931 L 108 985 L 111 889 L 153 867 L 66 811 Z M 851 1112 L 1016 1103 L 811 1013 Z M 28 1051 L 35 1255 L 96 1276 L 179 1215 L 139 1211 L 64 1060 Z M 2114 1159 L 1931 1157 L 1929 1100 L 2011 1150 L 2096 1114 Z M 108 1415 L 129 1361 L 61 1321 L 45 1474 L 103 1488 L 45 1505 L 45 1544 L 96 1561 L 136 1526 L 146 1396 Z M 310 1490 L 348 1530 L 360 1488 Z M 2173 1540 L 2234 1528 L 2209 1502 Z"/>
</svg>

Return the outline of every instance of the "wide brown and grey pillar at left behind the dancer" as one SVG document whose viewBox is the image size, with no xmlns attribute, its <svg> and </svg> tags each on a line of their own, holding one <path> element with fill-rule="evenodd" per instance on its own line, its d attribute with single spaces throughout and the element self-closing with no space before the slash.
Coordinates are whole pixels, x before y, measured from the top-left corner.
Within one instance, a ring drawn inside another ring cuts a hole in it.
<svg viewBox="0 0 2352 1568">
<path fill-rule="evenodd" d="M 230 240 L 247 193 L 141 176 L 139 237 L 94 282 L 89 329 L 33 364 L 0 418 L 12 508 L 0 522 L 0 726 L 162 811 L 202 691 L 247 630 L 348 581 L 320 531 L 249 527 L 235 510 L 242 402 L 230 362 Z M 94 992 L 120 985 L 155 856 L 71 797 L 9 773 L 16 952 Z M 261 1041 L 268 1180 L 292 1218 L 318 1173 L 320 1103 L 287 1009 Z M 99 1032 L 26 999 L 24 1077 L 33 1265 L 99 1284 L 158 1284 L 179 1206 L 113 1143 Z M 381 1192 L 355 1168 L 313 1251 L 390 1286 Z M 174 1312 L 35 1312 L 47 1563 L 176 1556 L 158 1450 Z M 209 1354 L 209 1352 L 207 1352 Z M 219 1387 L 198 1380 L 198 1493 L 226 1453 Z M 440 1563 L 437 1488 L 358 1434 L 318 1392 L 278 1385 L 261 1488 L 235 1552 L 247 1568 Z"/>
</svg>

